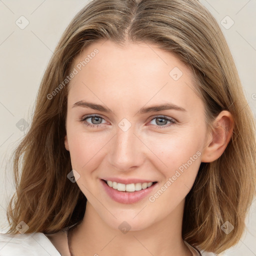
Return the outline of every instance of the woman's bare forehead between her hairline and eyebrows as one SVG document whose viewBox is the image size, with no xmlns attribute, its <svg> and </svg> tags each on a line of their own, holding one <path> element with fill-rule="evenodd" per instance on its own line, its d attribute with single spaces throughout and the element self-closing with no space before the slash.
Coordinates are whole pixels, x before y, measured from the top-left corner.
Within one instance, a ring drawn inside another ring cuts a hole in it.
<svg viewBox="0 0 256 256">
<path fill-rule="evenodd" d="M 94 42 L 75 57 L 73 68 L 77 73 L 68 85 L 72 102 L 93 99 L 129 105 L 171 101 L 182 102 L 185 108 L 199 99 L 191 70 L 174 54 L 145 42 L 123 46 L 109 40 Z"/>
</svg>

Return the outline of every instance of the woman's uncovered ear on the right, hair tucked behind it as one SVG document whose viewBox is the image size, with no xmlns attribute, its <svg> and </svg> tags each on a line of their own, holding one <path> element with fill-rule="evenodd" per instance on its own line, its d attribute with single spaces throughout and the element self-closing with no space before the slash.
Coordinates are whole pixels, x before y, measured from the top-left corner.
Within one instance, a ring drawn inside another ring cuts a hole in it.
<svg viewBox="0 0 256 256">
<path fill-rule="evenodd" d="M 216 160 L 225 150 L 233 132 L 234 121 L 229 111 L 221 111 L 213 122 L 214 129 L 206 138 L 201 162 Z"/>
</svg>

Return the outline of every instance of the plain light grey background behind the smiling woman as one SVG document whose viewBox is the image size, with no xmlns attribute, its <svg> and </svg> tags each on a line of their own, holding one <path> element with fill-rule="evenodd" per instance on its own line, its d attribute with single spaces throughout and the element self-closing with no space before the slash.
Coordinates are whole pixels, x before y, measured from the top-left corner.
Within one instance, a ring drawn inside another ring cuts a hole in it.
<svg viewBox="0 0 256 256">
<path fill-rule="evenodd" d="M 72 17 L 87 2 L 87 0 L 0 0 L 1 232 L 7 230 L 6 203 L 14 192 L 11 162 L 7 162 L 8 157 L 29 129 L 29 126 L 26 127 L 26 122 L 30 124 L 39 82 L 57 41 Z M 256 116 L 254 28 L 256 0 L 201 0 L 201 2 L 215 16 L 225 34 L 247 101 Z M 26 19 L 29 24 L 21 29 L 19 26 L 24 26 Z M 255 208 L 254 199 L 246 218 L 247 230 L 236 246 L 221 255 L 256 255 Z"/>
</svg>

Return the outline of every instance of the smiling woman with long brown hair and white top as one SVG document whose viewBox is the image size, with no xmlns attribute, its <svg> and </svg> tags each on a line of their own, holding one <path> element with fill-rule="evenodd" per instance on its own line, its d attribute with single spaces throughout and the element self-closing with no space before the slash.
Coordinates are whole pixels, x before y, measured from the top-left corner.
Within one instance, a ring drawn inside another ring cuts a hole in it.
<svg viewBox="0 0 256 256">
<path fill-rule="evenodd" d="M 64 31 L 15 151 L 1 255 L 221 253 L 255 194 L 254 131 L 197 0 L 92 0 Z"/>
</svg>

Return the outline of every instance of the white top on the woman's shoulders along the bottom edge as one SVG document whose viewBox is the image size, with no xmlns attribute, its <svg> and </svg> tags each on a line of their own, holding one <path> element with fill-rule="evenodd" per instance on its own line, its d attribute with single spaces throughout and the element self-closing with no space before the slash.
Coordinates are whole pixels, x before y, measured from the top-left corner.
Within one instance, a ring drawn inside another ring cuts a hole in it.
<svg viewBox="0 0 256 256">
<path fill-rule="evenodd" d="M 199 256 L 199 252 L 185 242 L 193 256 Z M 216 256 L 212 252 L 202 252 L 201 256 Z M 25 234 L 0 233 L 0 256 L 61 256 L 50 239 L 41 232 Z M 63 255 L 63 254 L 62 254 Z M 69 252 L 68 252 L 68 255 Z"/>
</svg>

